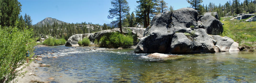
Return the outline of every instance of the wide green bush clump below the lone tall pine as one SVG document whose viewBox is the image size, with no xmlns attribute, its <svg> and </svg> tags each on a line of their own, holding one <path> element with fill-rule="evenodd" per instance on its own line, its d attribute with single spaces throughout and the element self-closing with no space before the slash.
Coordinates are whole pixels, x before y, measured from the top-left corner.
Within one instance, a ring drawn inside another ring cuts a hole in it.
<svg viewBox="0 0 256 83">
<path fill-rule="evenodd" d="M 128 47 L 134 44 L 133 41 L 131 34 L 124 35 L 113 32 L 110 35 L 102 36 L 99 40 L 99 46 L 108 48 Z"/>
</svg>

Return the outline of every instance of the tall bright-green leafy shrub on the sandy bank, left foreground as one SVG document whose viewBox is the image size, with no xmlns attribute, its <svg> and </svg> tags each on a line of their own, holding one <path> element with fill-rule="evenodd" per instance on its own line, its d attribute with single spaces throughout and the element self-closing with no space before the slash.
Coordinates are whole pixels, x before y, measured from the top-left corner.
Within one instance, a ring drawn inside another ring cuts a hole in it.
<svg viewBox="0 0 256 83">
<path fill-rule="evenodd" d="M 32 29 L 18 31 L 17 27 L 0 26 L 0 83 L 17 82 L 14 79 L 25 74 L 22 70 L 29 65 L 25 64 L 26 52 L 30 52 L 31 58 L 34 46 Z"/>
</svg>

